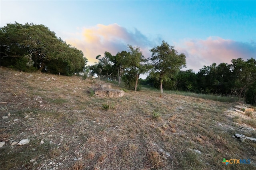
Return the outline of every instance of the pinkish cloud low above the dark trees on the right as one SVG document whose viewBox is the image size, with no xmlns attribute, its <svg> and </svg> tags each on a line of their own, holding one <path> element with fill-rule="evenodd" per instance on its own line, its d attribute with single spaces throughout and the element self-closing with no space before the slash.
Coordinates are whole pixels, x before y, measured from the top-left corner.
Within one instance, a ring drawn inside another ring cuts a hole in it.
<svg viewBox="0 0 256 170">
<path fill-rule="evenodd" d="M 176 49 L 186 55 L 187 68 L 198 72 L 204 65 L 231 63 L 232 59 L 256 58 L 256 43 L 235 42 L 220 37 L 206 40 L 183 40 Z"/>
</svg>

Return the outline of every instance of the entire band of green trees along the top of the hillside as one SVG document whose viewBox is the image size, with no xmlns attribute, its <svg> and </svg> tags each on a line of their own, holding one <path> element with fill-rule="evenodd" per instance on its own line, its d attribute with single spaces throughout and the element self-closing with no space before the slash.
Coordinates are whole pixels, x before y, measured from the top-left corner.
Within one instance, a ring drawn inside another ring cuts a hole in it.
<svg viewBox="0 0 256 170">
<path fill-rule="evenodd" d="M 85 66 L 88 60 L 81 50 L 57 38 L 44 25 L 7 24 L 0 28 L 1 66 L 21 71 L 42 71 L 53 74 L 73 75 L 90 71 L 98 77 L 118 77 L 119 84 L 138 90 L 139 81 L 152 83 L 163 90 L 180 90 L 194 93 L 232 95 L 256 104 L 256 60 L 233 59 L 232 64 L 212 63 L 198 73 L 186 67 L 186 56 L 178 53 L 167 42 L 150 49 L 151 57 L 145 58 L 140 47 L 127 45 L 127 50 L 112 55 L 105 51 L 98 55 L 98 63 Z M 149 73 L 146 80 L 140 75 Z"/>
</svg>

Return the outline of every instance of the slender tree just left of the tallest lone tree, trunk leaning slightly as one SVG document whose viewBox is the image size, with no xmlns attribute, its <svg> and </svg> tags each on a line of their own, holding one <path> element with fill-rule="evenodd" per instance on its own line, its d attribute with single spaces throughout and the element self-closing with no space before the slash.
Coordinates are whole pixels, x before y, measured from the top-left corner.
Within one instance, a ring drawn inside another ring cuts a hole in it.
<svg viewBox="0 0 256 170">
<path fill-rule="evenodd" d="M 148 65 L 146 65 L 148 59 L 142 55 L 140 47 L 132 47 L 132 45 L 128 45 L 128 53 L 130 53 L 130 55 L 126 55 L 126 57 L 123 59 L 123 62 L 126 63 L 126 74 L 134 75 L 129 77 L 134 77 L 134 91 L 137 91 L 140 74 L 146 73 L 148 71 Z"/>
</svg>

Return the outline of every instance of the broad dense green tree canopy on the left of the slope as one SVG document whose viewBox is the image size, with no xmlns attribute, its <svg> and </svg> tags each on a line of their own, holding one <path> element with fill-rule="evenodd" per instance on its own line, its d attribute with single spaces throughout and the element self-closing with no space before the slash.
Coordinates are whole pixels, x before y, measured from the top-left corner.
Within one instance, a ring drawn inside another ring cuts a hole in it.
<svg viewBox="0 0 256 170">
<path fill-rule="evenodd" d="M 81 50 L 57 38 L 44 25 L 7 24 L 0 29 L 1 65 L 23 71 L 71 75 L 88 62 Z"/>
</svg>

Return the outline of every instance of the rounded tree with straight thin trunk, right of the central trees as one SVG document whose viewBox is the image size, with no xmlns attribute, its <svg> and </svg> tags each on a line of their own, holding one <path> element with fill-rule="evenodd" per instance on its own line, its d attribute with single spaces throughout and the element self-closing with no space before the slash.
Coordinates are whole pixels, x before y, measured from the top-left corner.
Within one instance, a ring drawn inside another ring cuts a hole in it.
<svg viewBox="0 0 256 170">
<path fill-rule="evenodd" d="M 163 93 L 163 81 L 173 77 L 182 67 L 186 66 L 186 56 L 174 49 L 167 42 L 150 49 L 150 61 L 153 66 L 151 75 L 160 81 L 160 93 Z"/>
</svg>

